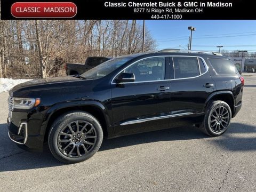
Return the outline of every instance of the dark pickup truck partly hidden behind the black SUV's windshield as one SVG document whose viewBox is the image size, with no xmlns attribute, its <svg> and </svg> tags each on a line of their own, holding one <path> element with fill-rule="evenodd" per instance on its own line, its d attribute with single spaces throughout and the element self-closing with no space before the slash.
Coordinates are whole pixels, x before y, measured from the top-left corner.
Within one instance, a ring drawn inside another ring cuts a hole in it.
<svg viewBox="0 0 256 192">
<path fill-rule="evenodd" d="M 100 65 L 111 58 L 106 57 L 87 57 L 85 63 L 66 63 L 65 69 L 67 75 L 81 75 L 85 71 Z"/>
</svg>

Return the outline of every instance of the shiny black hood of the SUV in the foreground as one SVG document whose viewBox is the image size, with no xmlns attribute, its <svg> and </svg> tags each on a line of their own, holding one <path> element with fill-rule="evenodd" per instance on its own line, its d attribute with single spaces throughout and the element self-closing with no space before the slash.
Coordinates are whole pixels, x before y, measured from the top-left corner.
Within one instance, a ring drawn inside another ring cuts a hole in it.
<svg viewBox="0 0 256 192">
<path fill-rule="evenodd" d="M 83 82 L 83 83 L 82 83 Z M 10 94 L 14 92 L 22 92 L 22 91 L 41 91 L 41 90 L 49 90 L 49 89 L 62 89 L 69 88 L 74 86 L 81 86 L 89 84 L 91 80 L 83 80 L 76 77 L 53 77 L 46 79 L 35 79 L 32 81 L 28 81 L 25 83 L 18 84 L 14 86 Z"/>
</svg>

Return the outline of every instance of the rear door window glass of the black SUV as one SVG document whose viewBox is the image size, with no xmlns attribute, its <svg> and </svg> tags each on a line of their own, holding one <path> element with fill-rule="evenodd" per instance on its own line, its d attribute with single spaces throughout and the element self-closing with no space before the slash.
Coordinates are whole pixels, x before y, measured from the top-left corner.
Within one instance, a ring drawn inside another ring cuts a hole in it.
<svg viewBox="0 0 256 192">
<path fill-rule="evenodd" d="M 187 78 L 200 75 L 197 58 L 173 57 L 175 78 Z"/>
</svg>

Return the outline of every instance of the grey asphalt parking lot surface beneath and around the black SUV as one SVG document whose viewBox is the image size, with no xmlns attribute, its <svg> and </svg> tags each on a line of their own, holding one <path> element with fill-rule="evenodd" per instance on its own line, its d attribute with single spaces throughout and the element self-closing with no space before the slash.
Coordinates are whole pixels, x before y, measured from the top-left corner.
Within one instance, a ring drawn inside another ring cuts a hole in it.
<svg viewBox="0 0 256 192">
<path fill-rule="evenodd" d="M 130 135 L 71 165 L 47 146 L 29 153 L 9 139 L 0 93 L 0 191 L 255 191 L 256 74 L 244 77 L 242 109 L 222 136 L 193 126 Z"/>
</svg>

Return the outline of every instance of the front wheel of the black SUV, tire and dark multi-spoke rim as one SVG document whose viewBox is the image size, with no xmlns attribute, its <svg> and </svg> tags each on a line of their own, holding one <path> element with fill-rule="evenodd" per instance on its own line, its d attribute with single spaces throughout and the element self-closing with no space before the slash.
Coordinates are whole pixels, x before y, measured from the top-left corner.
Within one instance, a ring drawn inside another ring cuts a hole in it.
<svg viewBox="0 0 256 192">
<path fill-rule="evenodd" d="M 102 139 L 102 127 L 94 116 L 84 111 L 70 111 L 52 124 L 48 144 L 59 161 L 78 163 L 92 157 L 99 150 Z"/>
</svg>

